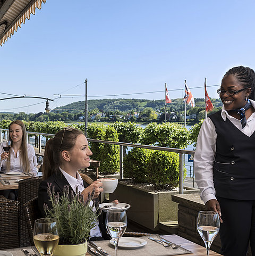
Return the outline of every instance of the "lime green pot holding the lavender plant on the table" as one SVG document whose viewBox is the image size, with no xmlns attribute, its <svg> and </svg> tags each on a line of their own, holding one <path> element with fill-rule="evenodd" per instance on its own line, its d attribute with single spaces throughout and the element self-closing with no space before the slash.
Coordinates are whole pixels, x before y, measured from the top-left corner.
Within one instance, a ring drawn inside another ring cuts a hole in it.
<svg viewBox="0 0 255 256">
<path fill-rule="evenodd" d="M 85 256 L 87 250 L 87 241 L 81 244 L 58 244 L 53 256 Z"/>
</svg>

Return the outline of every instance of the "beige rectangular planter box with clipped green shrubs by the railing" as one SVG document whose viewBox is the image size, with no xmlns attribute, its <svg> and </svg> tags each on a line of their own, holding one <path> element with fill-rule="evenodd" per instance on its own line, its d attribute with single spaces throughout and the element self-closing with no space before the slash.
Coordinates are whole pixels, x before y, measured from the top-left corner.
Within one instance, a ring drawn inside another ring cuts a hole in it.
<svg viewBox="0 0 255 256">
<path fill-rule="evenodd" d="M 151 230 L 159 230 L 161 222 L 177 223 L 172 195 L 179 193 L 179 154 L 133 148 L 123 159 L 123 175 L 129 179 L 119 181 L 109 199 L 129 203 L 130 220 Z M 186 193 L 199 189 L 185 187 Z"/>
</svg>

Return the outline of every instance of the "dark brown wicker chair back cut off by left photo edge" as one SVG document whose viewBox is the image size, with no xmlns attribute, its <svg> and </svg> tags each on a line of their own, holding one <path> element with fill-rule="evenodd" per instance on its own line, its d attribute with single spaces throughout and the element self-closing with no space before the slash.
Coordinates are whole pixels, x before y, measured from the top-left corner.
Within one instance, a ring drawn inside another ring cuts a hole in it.
<svg viewBox="0 0 255 256">
<path fill-rule="evenodd" d="M 19 202 L 0 196 L 0 250 L 19 247 Z"/>
</svg>

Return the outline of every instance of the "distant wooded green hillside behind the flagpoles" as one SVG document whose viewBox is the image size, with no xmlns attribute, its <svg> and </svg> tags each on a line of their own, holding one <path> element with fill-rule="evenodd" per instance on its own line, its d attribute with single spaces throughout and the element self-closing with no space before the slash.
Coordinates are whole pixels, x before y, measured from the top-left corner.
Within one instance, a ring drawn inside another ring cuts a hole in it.
<svg viewBox="0 0 255 256">
<path fill-rule="evenodd" d="M 204 108 L 205 102 L 203 98 L 195 98 L 196 106 L 199 108 Z M 215 108 L 222 106 L 222 102 L 219 98 L 211 99 Z M 85 108 L 85 102 L 73 102 L 65 106 L 60 106 L 52 110 L 55 113 L 61 113 L 63 111 L 68 111 L 69 113 L 83 111 Z M 117 99 L 103 99 L 103 100 L 88 100 L 88 111 L 98 109 L 103 112 L 109 112 L 116 110 L 129 112 L 131 110 L 140 112 L 145 108 L 152 108 L 155 111 L 160 111 L 165 108 L 165 100 L 141 100 L 141 99 L 129 99 L 129 98 L 117 98 Z M 176 98 L 172 100 L 172 103 L 167 104 L 167 108 L 171 111 L 182 111 L 184 110 L 184 103 L 182 98 Z M 190 106 L 187 106 L 189 109 Z"/>
</svg>

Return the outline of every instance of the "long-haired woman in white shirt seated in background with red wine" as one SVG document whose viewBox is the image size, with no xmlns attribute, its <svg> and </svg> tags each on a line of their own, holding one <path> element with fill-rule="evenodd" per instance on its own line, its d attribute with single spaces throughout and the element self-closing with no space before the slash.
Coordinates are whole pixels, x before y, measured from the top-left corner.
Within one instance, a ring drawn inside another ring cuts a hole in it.
<svg viewBox="0 0 255 256">
<path fill-rule="evenodd" d="M 1 154 L 1 172 L 31 172 L 37 174 L 36 155 L 33 146 L 27 143 L 25 136 L 25 126 L 20 120 L 15 120 L 9 126 L 9 138 L 11 148 L 8 153 L 4 152 L 3 144 L 0 146 Z M 10 160 L 10 161 L 5 161 Z M 8 192 L 8 195 L 6 194 Z M 9 194 L 10 190 L 5 192 L 5 197 L 13 198 L 13 194 Z"/>
</svg>

